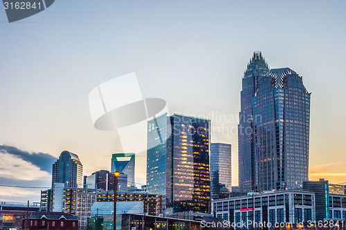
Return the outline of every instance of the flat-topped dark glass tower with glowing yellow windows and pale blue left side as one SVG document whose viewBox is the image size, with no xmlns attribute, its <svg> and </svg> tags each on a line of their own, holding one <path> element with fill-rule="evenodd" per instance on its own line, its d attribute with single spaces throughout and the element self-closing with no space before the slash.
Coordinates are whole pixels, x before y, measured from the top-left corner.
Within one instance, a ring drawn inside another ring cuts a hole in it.
<svg viewBox="0 0 346 230">
<path fill-rule="evenodd" d="M 147 191 L 176 212 L 210 211 L 210 120 L 174 114 L 148 122 Z"/>
</svg>

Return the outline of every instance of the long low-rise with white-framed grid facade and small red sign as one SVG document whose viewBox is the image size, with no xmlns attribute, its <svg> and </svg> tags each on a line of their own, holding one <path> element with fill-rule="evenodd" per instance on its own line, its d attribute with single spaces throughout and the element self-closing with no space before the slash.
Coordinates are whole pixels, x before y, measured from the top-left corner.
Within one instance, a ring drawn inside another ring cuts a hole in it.
<svg viewBox="0 0 346 230">
<path fill-rule="evenodd" d="M 271 191 L 214 200 L 213 214 L 230 223 L 292 223 L 315 220 L 315 194 L 309 191 Z M 255 218 L 253 218 L 255 217 Z M 248 227 L 249 228 L 249 227 Z"/>
</svg>

